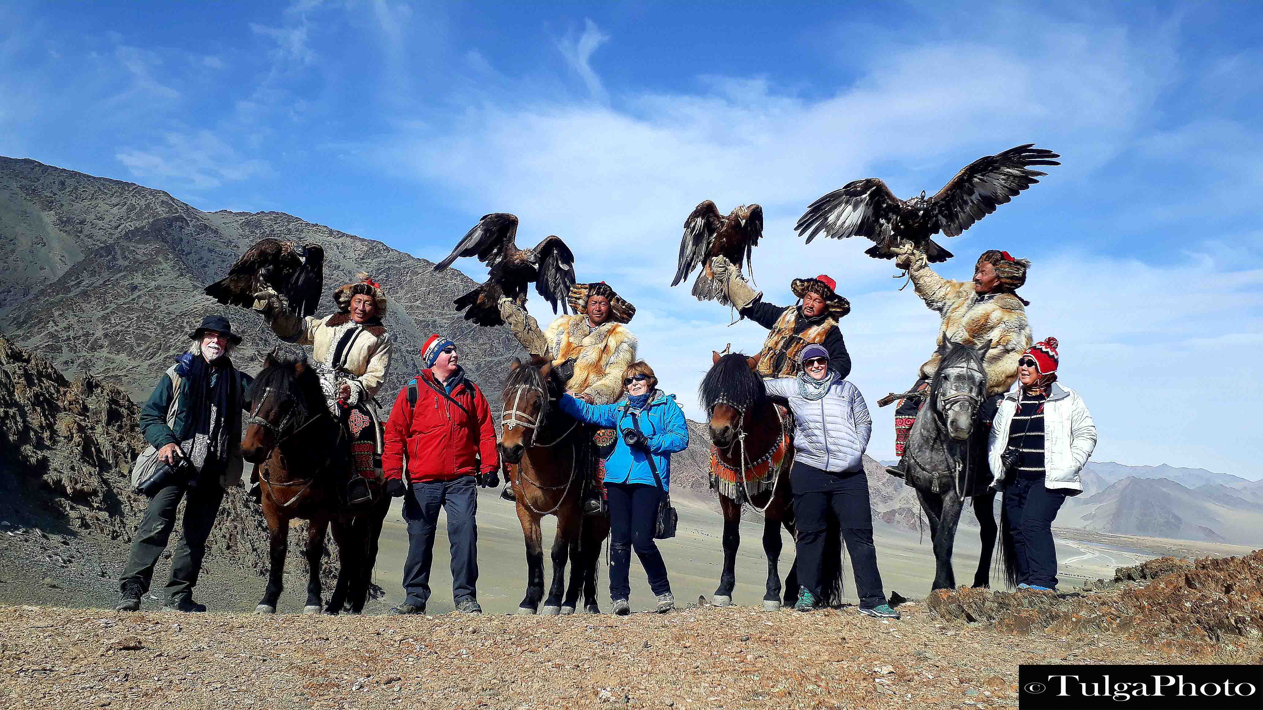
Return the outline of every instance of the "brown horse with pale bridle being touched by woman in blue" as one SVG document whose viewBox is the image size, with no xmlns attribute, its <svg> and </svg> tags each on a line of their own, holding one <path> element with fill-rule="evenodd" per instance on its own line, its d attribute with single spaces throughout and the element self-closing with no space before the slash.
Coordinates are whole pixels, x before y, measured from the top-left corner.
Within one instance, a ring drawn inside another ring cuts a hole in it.
<svg viewBox="0 0 1263 710">
<path fill-rule="evenodd" d="M 519 614 L 573 614 L 578 596 L 584 610 L 600 614 L 596 565 L 601 542 L 610 533 L 608 515 L 584 515 L 580 505 L 585 465 L 591 459 L 591 428 L 556 409 L 565 392 L 561 374 L 538 355 L 514 359 L 504 383 L 500 460 L 518 499 L 518 520 L 527 543 L 527 594 Z M 539 520 L 557 517 L 552 546 L 552 584 L 544 599 L 543 533 Z M 571 565 L 566 584 L 566 563 Z"/>
</svg>

